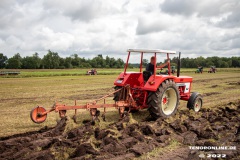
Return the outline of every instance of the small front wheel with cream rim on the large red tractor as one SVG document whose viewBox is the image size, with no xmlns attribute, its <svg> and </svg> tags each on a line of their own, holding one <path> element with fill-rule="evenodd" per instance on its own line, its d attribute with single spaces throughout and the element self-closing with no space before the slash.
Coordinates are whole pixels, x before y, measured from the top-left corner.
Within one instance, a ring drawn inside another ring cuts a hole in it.
<svg viewBox="0 0 240 160">
<path fill-rule="evenodd" d="M 202 108 L 202 104 L 202 95 L 197 92 L 193 92 L 188 100 L 187 108 L 198 112 Z"/>
</svg>

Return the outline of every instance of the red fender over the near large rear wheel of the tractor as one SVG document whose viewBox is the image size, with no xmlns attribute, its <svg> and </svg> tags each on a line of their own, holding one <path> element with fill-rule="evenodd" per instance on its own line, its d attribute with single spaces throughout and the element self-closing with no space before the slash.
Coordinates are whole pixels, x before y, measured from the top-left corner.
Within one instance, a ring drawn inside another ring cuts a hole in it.
<svg viewBox="0 0 240 160">
<path fill-rule="evenodd" d="M 174 79 L 174 76 L 169 75 L 156 75 L 154 78 L 154 75 L 152 75 L 148 81 L 144 85 L 144 90 L 153 91 L 155 92 L 158 87 L 167 79 Z"/>
</svg>

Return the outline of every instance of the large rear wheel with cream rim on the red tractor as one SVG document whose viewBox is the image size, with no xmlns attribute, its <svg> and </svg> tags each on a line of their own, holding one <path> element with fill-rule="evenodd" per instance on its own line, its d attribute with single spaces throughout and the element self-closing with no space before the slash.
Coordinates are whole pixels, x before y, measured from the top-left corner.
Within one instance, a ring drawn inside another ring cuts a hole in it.
<svg viewBox="0 0 240 160">
<path fill-rule="evenodd" d="M 154 119 L 174 115 L 179 105 L 179 91 L 175 82 L 162 82 L 156 92 L 148 94 L 147 104 L 148 111 Z"/>
</svg>

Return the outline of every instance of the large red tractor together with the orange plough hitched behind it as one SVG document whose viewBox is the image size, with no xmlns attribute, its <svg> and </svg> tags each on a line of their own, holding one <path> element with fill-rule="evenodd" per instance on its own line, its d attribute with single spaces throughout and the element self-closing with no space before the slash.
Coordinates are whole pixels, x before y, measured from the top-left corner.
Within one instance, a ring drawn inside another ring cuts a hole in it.
<svg viewBox="0 0 240 160">
<path fill-rule="evenodd" d="M 77 109 L 86 109 L 92 116 L 92 121 L 99 120 L 99 108 L 103 108 L 102 117 L 105 120 L 106 108 L 116 108 L 119 111 L 120 118 L 127 115 L 128 112 L 140 109 L 148 109 L 151 117 L 167 118 L 176 113 L 179 106 L 179 100 L 188 101 L 187 107 L 198 112 L 202 107 L 202 96 L 197 93 L 191 93 L 192 77 L 180 76 L 180 52 L 167 50 L 145 50 L 145 49 L 128 49 L 127 61 L 124 71 L 117 77 L 114 82 L 115 91 L 99 99 L 89 102 L 85 105 L 72 106 L 54 103 L 51 109 L 46 110 L 41 106 L 35 107 L 30 112 L 30 117 L 35 123 L 42 123 L 46 120 L 47 114 L 55 111 L 61 118 L 66 116 L 67 110 L 75 110 L 73 119 L 76 121 Z M 179 53 L 177 76 L 171 74 L 170 54 Z M 128 62 L 131 54 L 140 54 L 139 72 L 127 72 Z M 154 71 L 143 71 L 143 55 L 152 54 L 155 58 Z M 157 66 L 157 55 L 166 54 L 167 62 Z M 168 74 L 157 74 L 157 70 L 168 67 Z M 114 95 L 112 104 L 106 104 L 105 99 Z M 102 101 L 102 103 L 98 103 Z"/>
</svg>

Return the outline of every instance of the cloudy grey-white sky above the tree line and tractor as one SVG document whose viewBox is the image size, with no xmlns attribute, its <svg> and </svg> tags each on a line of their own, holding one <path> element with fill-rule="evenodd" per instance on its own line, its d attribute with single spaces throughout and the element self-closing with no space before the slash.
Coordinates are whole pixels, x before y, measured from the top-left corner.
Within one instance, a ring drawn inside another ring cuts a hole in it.
<svg viewBox="0 0 240 160">
<path fill-rule="evenodd" d="M 1 0 L 0 53 L 240 56 L 240 0 Z"/>
</svg>

